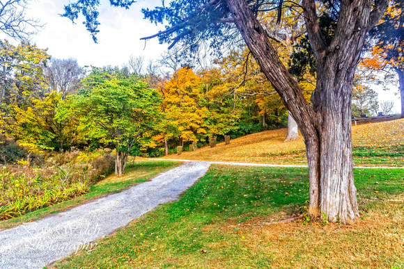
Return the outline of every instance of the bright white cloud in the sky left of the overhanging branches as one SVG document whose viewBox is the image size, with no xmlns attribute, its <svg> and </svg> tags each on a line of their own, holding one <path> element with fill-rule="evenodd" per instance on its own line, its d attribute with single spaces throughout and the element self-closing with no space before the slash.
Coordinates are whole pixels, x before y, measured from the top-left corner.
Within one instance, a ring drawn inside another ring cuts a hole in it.
<svg viewBox="0 0 404 269">
<path fill-rule="evenodd" d="M 153 8 L 161 1 L 138 1 L 129 10 L 111 7 L 109 1 L 102 0 L 98 44 L 93 42 L 91 35 L 82 24 L 83 17 L 76 24 L 59 14 L 69 1 L 40 0 L 31 2 L 28 14 L 39 18 L 45 28 L 33 37 L 41 49 L 48 49 L 48 54 L 55 58 L 76 58 L 80 65 L 118 65 L 126 63 L 130 55 L 143 55 L 145 58 L 158 58 L 166 49 L 166 44 L 158 44 L 158 40 L 140 40 L 164 29 L 164 26 L 151 24 L 143 19 L 141 8 Z M 0 35 L 0 38 L 7 38 Z"/>
</svg>

